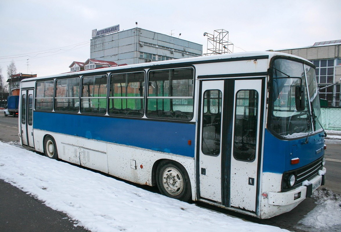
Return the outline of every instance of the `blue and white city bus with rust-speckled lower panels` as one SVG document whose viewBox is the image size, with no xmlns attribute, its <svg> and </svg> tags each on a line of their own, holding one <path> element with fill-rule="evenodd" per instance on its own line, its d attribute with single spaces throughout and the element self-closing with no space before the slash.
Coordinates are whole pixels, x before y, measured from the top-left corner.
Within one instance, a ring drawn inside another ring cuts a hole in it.
<svg viewBox="0 0 341 232">
<path fill-rule="evenodd" d="M 326 169 L 315 66 L 278 52 L 157 61 L 21 81 L 19 137 L 52 159 L 257 218 Z"/>
</svg>

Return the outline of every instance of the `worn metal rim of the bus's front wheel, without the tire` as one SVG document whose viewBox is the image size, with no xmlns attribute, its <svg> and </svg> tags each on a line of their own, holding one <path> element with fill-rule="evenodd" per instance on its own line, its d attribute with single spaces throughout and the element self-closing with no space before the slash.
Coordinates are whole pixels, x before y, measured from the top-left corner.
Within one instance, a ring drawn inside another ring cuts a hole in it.
<svg viewBox="0 0 341 232">
<path fill-rule="evenodd" d="M 162 173 L 162 184 L 170 195 L 179 195 L 183 190 L 181 173 L 173 167 L 166 168 Z"/>
</svg>

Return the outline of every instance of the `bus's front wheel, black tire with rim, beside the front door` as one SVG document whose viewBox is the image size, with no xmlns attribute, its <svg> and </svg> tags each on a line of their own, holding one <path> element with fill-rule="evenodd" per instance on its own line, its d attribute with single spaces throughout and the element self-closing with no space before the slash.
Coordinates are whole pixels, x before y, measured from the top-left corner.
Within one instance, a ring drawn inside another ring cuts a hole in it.
<svg viewBox="0 0 341 232">
<path fill-rule="evenodd" d="M 156 173 L 157 185 L 163 195 L 186 202 L 192 198 L 190 178 L 181 164 L 162 161 Z"/>
</svg>

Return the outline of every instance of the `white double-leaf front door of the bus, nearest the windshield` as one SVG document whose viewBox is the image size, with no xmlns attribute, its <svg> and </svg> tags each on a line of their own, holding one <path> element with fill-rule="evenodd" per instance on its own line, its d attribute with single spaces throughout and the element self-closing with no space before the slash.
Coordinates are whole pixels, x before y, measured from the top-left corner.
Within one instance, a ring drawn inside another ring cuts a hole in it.
<svg viewBox="0 0 341 232">
<path fill-rule="evenodd" d="M 199 198 L 256 212 L 262 79 L 200 86 Z"/>
</svg>

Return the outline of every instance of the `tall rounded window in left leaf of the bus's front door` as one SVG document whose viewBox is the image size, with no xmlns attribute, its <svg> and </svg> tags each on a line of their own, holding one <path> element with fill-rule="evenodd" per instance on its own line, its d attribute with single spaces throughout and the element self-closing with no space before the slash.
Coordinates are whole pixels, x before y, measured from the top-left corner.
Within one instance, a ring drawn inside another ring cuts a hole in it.
<svg viewBox="0 0 341 232">
<path fill-rule="evenodd" d="M 201 150 L 205 155 L 218 156 L 220 154 L 222 93 L 220 90 L 206 90 L 203 101 Z"/>
</svg>

